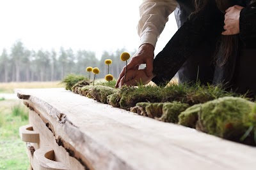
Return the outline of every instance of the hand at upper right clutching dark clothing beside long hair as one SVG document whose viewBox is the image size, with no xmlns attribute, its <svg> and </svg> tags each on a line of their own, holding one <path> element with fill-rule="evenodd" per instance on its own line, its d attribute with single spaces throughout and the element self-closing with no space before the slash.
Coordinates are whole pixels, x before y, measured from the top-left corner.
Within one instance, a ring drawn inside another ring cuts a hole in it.
<svg viewBox="0 0 256 170">
<path fill-rule="evenodd" d="M 240 11 L 243 9 L 243 6 L 235 5 L 229 7 L 225 12 L 225 20 L 224 20 L 224 29 L 221 34 L 228 36 L 239 34 L 239 18 Z"/>
</svg>

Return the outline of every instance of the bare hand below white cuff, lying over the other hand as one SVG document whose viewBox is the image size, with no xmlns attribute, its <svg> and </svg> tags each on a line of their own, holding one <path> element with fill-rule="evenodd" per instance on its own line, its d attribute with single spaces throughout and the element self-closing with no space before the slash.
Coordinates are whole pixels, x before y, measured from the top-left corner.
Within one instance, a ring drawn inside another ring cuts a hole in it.
<svg viewBox="0 0 256 170">
<path fill-rule="evenodd" d="M 129 70 L 138 71 L 140 64 L 146 64 L 145 73 L 148 77 L 152 76 L 153 71 L 153 61 L 154 61 L 154 46 L 150 44 L 143 44 L 140 46 L 138 51 L 132 57 L 131 61 L 127 64 L 127 72 Z M 124 84 L 120 83 L 121 78 L 124 77 L 125 67 L 122 69 L 118 80 L 116 81 L 115 87 L 120 87 Z M 127 79 L 129 80 L 129 79 Z"/>
</svg>

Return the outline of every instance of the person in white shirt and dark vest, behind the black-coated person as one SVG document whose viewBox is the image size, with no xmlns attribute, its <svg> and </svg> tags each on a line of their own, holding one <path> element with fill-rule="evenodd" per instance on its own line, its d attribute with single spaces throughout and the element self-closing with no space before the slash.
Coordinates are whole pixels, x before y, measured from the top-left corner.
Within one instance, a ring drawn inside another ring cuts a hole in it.
<svg viewBox="0 0 256 170">
<path fill-rule="evenodd" d="M 147 76 L 152 75 L 154 47 L 156 46 L 157 37 L 164 29 L 164 25 L 168 21 L 168 16 L 175 10 L 175 18 L 178 28 L 184 24 L 189 14 L 195 10 L 193 0 L 168 0 L 168 1 L 148 1 L 144 0 L 140 6 L 141 19 L 138 23 L 138 34 L 141 38 L 141 45 L 138 52 L 132 57 L 131 62 L 127 65 L 127 69 L 138 70 L 140 64 L 147 64 Z M 164 12 L 162 12 L 164 11 Z M 212 41 L 209 44 L 215 43 Z M 195 70 L 200 66 L 200 78 L 208 82 L 212 78 L 213 70 L 211 61 L 204 55 L 211 55 L 213 52 L 210 45 L 204 45 L 201 51 L 198 51 L 193 58 L 186 61 L 179 70 L 179 82 L 191 81 L 196 78 Z M 205 54 L 204 54 L 205 53 Z M 205 64 L 207 63 L 207 64 Z M 124 76 L 124 70 L 121 72 L 119 79 Z M 118 83 L 116 83 L 118 87 Z"/>
</svg>

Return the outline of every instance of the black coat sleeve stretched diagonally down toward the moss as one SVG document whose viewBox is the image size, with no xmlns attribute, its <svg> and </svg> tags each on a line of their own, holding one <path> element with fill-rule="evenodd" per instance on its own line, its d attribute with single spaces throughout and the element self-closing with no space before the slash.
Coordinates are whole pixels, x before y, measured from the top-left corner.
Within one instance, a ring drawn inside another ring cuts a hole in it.
<svg viewBox="0 0 256 170">
<path fill-rule="evenodd" d="M 201 43 L 207 39 L 220 36 L 223 29 L 224 15 L 215 3 L 208 4 L 198 13 L 192 15 L 174 34 L 153 62 L 152 79 L 157 85 L 166 85 L 179 71 L 184 62 Z M 211 57 L 211 56 L 209 56 Z"/>
</svg>

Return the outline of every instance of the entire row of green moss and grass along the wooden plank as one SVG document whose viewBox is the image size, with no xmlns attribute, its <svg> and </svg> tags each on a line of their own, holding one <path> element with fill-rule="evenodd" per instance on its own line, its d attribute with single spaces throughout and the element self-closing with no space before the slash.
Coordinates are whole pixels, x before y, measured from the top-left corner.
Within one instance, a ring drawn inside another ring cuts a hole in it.
<svg viewBox="0 0 256 170">
<path fill-rule="evenodd" d="M 225 91 L 220 85 L 141 85 L 115 89 L 115 81 L 109 85 L 108 82 L 97 82 L 92 86 L 88 80 L 72 80 L 70 77 L 65 80 L 66 89 L 70 89 L 76 81 L 71 88 L 73 92 L 100 103 L 125 110 L 131 108 L 131 111 L 139 115 L 178 123 L 239 143 L 256 145 L 256 104 L 245 99 L 245 95 Z"/>
</svg>

